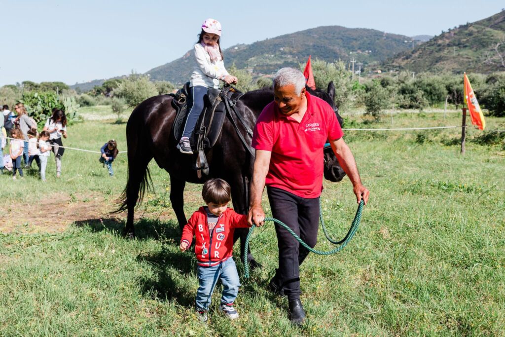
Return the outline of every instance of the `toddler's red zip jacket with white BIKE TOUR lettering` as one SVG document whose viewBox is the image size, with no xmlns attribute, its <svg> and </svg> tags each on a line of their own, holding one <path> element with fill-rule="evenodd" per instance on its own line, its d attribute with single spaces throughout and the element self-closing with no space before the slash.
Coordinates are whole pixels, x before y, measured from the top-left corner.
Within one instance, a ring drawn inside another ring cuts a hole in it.
<svg viewBox="0 0 505 337">
<path fill-rule="evenodd" d="M 233 232 L 235 228 L 250 227 L 247 215 L 238 214 L 227 208 L 218 218 L 216 226 L 209 232 L 207 212 L 200 207 L 194 212 L 182 230 L 181 243 L 191 246 L 193 235 L 196 238 L 194 252 L 198 265 L 211 267 L 227 260 L 233 251 Z"/>
</svg>

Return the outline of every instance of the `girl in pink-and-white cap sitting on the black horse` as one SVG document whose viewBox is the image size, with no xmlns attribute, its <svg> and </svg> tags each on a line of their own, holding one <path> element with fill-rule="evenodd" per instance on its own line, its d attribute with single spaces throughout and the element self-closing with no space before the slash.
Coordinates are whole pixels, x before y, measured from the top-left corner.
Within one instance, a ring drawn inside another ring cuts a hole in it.
<svg viewBox="0 0 505 337">
<path fill-rule="evenodd" d="M 204 95 L 207 93 L 207 88 L 219 89 L 220 80 L 228 84 L 237 83 L 237 78 L 230 75 L 224 67 L 223 53 L 219 44 L 221 23 L 214 19 L 205 20 L 198 36 L 198 43 L 193 49 L 195 62 L 189 83 L 190 94 L 187 106 L 190 110 L 177 146 L 180 152 L 186 154 L 193 153 L 189 138 L 204 109 Z"/>
</svg>

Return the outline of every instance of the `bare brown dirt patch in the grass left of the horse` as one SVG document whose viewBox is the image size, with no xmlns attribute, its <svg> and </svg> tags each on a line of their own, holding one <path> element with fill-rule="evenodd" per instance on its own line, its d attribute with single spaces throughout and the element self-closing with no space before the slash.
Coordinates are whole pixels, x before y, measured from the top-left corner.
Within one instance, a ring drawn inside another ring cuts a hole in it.
<svg viewBox="0 0 505 337">
<path fill-rule="evenodd" d="M 99 195 L 54 194 L 24 205 L 5 205 L 0 213 L 0 232 L 56 233 L 73 222 L 115 217 L 113 207 Z M 118 214 L 117 218 L 125 215 Z"/>
</svg>

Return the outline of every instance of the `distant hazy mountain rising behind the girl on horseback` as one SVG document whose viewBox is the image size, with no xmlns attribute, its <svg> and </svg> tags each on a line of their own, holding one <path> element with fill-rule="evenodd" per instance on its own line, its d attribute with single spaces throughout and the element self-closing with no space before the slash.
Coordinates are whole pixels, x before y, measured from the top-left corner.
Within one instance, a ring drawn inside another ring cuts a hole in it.
<svg viewBox="0 0 505 337">
<path fill-rule="evenodd" d="M 420 41 L 414 42 L 416 45 Z M 309 55 L 328 62 L 355 58 L 366 65 L 382 62 L 412 48 L 412 38 L 375 29 L 323 26 L 285 34 L 223 51 L 227 67 L 249 69 L 254 75 L 272 74 L 282 67 L 298 67 Z M 192 51 L 182 58 L 146 72 L 151 80 L 182 83 L 190 78 Z"/>
</svg>

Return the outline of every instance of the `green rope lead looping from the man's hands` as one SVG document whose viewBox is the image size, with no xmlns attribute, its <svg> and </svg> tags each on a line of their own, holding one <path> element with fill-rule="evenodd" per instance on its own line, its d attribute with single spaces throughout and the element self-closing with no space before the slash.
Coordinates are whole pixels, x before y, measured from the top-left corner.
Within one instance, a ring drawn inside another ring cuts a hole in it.
<svg viewBox="0 0 505 337">
<path fill-rule="evenodd" d="M 289 228 L 285 223 L 283 223 L 280 220 L 277 220 L 272 217 L 266 217 L 265 221 L 273 221 L 273 222 L 283 226 L 291 235 L 293 235 L 293 237 L 300 243 L 300 245 L 304 246 L 309 252 L 312 252 L 312 253 L 315 253 L 318 255 L 331 255 L 331 254 L 335 254 L 335 253 L 341 251 L 342 249 L 344 249 L 344 247 L 347 246 L 347 244 L 352 239 L 354 234 L 356 234 L 356 232 L 358 231 L 358 227 L 360 226 L 360 222 L 361 222 L 361 213 L 363 212 L 363 205 L 364 204 L 365 204 L 365 202 L 362 199 L 360 202 L 360 205 L 358 206 L 358 210 L 356 211 L 356 215 L 354 216 L 354 220 L 352 220 L 352 224 L 350 225 L 349 231 L 347 232 L 345 237 L 340 241 L 334 241 L 328 236 L 326 227 L 324 226 L 322 208 L 320 207 L 319 218 L 321 220 L 321 224 L 322 224 L 323 231 L 324 231 L 326 238 L 332 244 L 340 245 L 340 246 L 332 249 L 331 251 L 319 251 L 317 249 L 310 247 L 298 235 L 296 235 L 296 233 L 291 228 Z M 252 227 L 249 229 L 249 232 L 247 233 L 247 237 L 245 238 L 245 250 L 244 250 L 245 252 L 247 252 L 249 249 L 249 239 L 250 239 L 252 231 L 254 231 L 255 227 L 256 227 L 256 225 L 253 224 Z M 249 277 L 249 263 L 247 261 L 247 254 L 244 254 L 243 264 L 244 264 L 244 277 L 248 278 Z"/>
</svg>

